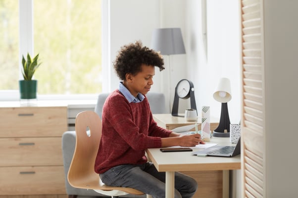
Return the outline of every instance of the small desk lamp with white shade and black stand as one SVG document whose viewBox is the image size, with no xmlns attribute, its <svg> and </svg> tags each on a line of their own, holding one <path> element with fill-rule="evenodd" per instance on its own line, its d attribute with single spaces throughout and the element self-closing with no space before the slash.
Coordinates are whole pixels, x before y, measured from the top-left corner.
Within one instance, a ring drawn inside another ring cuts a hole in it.
<svg viewBox="0 0 298 198">
<path fill-rule="evenodd" d="M 231 82 L 227 78 L 221 78 L 215 89 L 213 98 L 221 102 L 221 114 L 218 127 L 213 131 L 214 137 L 230 137 L 230 118 L 228 102 L 231 100 Z"/>
</svg>

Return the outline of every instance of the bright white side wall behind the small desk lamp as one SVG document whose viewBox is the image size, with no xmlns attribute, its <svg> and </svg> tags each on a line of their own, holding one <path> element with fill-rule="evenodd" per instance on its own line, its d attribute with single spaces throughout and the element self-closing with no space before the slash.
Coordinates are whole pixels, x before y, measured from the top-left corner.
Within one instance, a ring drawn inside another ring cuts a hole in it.
<svg viewBox="0 0 298 198">
<path fill-rule="evenodd" d="M 232 100 L 228 102 L 230 120 L 231 123 L 238 123 L 241 114 L 238 0 L 206 1 L 207 41 L 202 35 L 202 1 L 186 2 L 188 77 L 197 86 L 197 107 L 210 106 L 211 116 L 219 117 L 221 104 L 212 95 L 219 78 L 227 77 L 231 80 L 232 89 Z"/>
</svg>

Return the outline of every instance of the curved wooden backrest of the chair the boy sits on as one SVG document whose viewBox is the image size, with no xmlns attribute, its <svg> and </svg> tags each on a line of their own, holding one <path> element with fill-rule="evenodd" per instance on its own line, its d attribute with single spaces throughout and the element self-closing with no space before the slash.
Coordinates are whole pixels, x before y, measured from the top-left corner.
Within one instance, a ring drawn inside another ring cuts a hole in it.
<svg viewBox="0 0 298 198">
<path fill-rule="evenodd" d="M 99 141 L 101 138 L 101 120 L 93 111 L 81 112 L 76 117 L 76 147 L 68 170 L 68 182 L 71 186 L 82 188 L 82 181 L 98 181 L 94 171 Z M 92 189 L 91 184 L 86 189 Z"/>
</svg>

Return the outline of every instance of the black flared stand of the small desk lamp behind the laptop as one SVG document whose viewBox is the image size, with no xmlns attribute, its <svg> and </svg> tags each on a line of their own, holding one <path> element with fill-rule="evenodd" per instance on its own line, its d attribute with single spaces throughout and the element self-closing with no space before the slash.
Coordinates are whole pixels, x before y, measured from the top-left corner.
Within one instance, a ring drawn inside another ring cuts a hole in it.
<svg viewBox="0 0 298 198">
<path fill-rule="evenodd" d="M 230 117 L 228 103 L 221 103 L 221 114 L 218 127 L 213 131 L 214 137 L 230 137 Z"/>
</svg>

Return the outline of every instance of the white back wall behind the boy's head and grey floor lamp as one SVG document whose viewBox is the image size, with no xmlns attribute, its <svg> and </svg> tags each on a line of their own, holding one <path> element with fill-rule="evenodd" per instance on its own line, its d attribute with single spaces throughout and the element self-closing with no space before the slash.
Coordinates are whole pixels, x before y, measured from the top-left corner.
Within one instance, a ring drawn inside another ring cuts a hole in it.
<svg viewBox="0 0 298 198">
<path fill-rule="evenodd" d="M 110 0 L 109 2 L 110 34 L 106 35 L 105 38 L 109 37 L 109 42 L 106 43 L 109 47 L 106 49 L 109 50 L 110 60 L 106 62 L 106 65 L 109 68 L 110 80 L 106 77 L 106 81 L 111 83 L 104 85 L 105 92 L 118 87 L 119 79 L 112 68 L 112 61 L 114 61 L 117 51 L 122 45 L 135 40 L 142 40 L 144 45 L 150 47 L 152 32 L 155 28 L 182 28 L 181 26 L 184 26 L 185 22 L 183 9 L 185 3 L 183 0 L 178 0 L 178 3 L 169 0 Z M 165 93 L 167 102 L 173 101 L 174 89 L 178 79 L 186 78 L 186 70 L 180 70 L 181 66 L 186 65 L 185 57 L 186 55 L 183 54 L 164 56 L 166 69 L 162 72 L 159 72 L 158 68 L 155 69 L 154 85 L 151 91 Z M 172 68 L 171 86 L 168 83 L 169 62 Z M 171 100 L 169 98 L 170 88 Z M 168 112 L 170 112 L 170 106 L 170 104 L 166 106 Z"/>
</svg>

